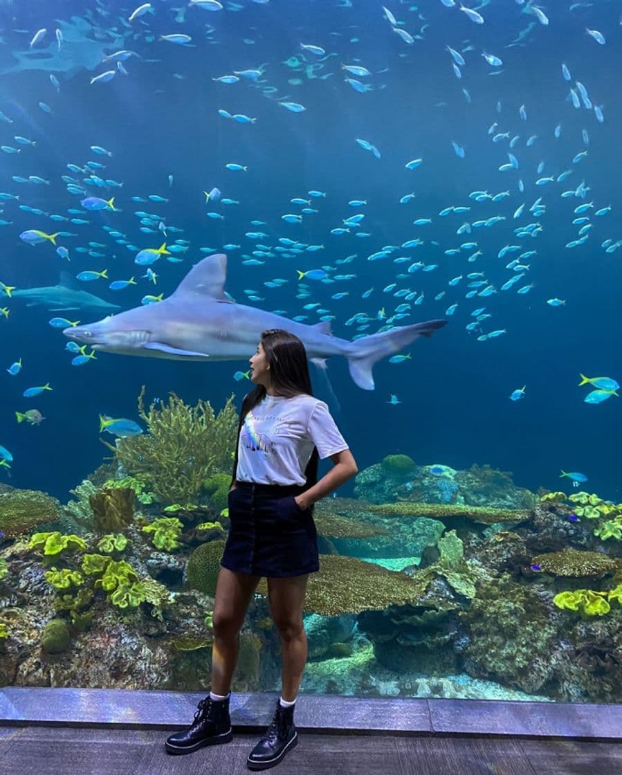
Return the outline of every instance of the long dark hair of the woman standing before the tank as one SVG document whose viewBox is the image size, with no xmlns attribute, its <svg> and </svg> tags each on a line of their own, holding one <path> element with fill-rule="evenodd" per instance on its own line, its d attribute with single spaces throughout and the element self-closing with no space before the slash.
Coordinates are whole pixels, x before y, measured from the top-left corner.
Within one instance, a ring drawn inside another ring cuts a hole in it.
<svg viewBox="0 0 622 775">
<path fill-rule="evenodd" d="M 304 349 L 304 344 L 301 340 L 284 329 L 266 329 L 266 331 L 261 332 L 260 341 L 270 366 L 270 375 L 275 392 L 287 398 L 293 398 L 300 394 L 313 395 L 307 351 Z M 259 404 L 259 401 L 263 400 L 265 395 L 266 388 L 263 385 L 256 385 L 242 400 L 238 435 L 235 439 L 233 474 L 229 487 L 235 482 L 235 472 L 238 469 L 239 434 L 242 430 L 244 419 L 249 411 Z M 304 477 L 306 479 L 304 484 L 305 490 L 313 487 L 318 480 L 318 460 L 318 448 L 314 446 L 311 458 L 304 469 Z"/>
</svg>

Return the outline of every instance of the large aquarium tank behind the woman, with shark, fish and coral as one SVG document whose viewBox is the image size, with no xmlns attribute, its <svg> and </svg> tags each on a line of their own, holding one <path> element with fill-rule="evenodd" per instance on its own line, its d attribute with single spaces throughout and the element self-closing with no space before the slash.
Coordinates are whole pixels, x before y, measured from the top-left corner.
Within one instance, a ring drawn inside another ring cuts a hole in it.
<svg viewBox="0 0 622 775">
<path fill-rule="evenodd" d="M 301 691 L 619 702 L 619 7 L 0 19 L 0 683 L 208 687 L 280 327 L 359 468 L 315 505 Z M 279 687 L 266 594 L 233 691 Z"/>
</svg>

